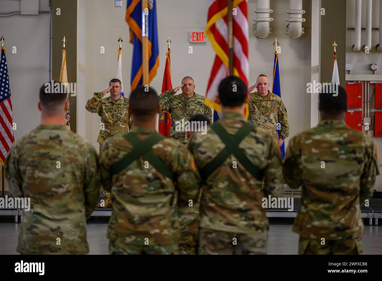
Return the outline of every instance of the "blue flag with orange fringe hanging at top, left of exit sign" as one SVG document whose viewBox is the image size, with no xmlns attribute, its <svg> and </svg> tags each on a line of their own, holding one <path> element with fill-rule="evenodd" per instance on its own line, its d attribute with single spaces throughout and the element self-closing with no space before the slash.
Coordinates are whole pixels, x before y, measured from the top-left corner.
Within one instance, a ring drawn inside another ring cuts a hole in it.
<svg viewBox="0 0 382 281">
<path fill-rule="evenodd" d="M 142 1 L 128 0 L 126 8 L 126 22 L 130 27 L 130 43 L 133 44 L 131 64 L 131 90 L 142 85 Z M 157 6 L 155 0 L 149 1 L 148 29 L 149 29 L 149 83 L 157 74 L 159 67 L 159 45 L 157 29 Z"/>
</svg>

